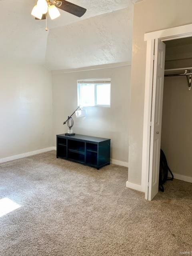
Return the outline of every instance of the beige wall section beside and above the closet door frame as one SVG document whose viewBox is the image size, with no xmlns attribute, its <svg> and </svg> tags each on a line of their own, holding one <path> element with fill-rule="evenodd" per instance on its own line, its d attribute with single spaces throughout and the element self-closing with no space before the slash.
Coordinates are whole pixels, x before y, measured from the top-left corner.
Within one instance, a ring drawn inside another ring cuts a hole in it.
<svg viewBox="0 0 192 256">
<path fill-rule="evenodd" d="M 144 0 L 134 6 L 128 182 L 141 185 L 146 42 L 144 33 L 192 23 L 191 0 Z"/>
</svg>

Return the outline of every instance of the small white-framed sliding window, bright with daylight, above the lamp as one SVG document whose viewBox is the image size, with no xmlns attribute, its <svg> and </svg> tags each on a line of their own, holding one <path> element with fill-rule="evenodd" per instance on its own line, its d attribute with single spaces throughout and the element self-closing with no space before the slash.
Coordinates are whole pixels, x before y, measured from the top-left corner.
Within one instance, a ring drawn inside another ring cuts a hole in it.
<svg viewBox="0 0 192 256">
<path fill-rule="evenodd" d="M 110 107 L 111 81 L 77 81 L 78 106 Z"/>
</svg>

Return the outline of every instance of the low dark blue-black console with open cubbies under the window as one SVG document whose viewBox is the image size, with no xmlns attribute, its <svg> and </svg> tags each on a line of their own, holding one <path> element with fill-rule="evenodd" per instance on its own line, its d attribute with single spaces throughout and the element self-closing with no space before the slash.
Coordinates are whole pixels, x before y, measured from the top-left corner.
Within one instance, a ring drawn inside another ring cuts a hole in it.
<svg viewBox="0 0 192 256">
<path fill-rule="evenodd" d="M 95 167 L 110 164 L 110 139 L 76 134 L 57 135 L 57 158 Z"/>
</svg>

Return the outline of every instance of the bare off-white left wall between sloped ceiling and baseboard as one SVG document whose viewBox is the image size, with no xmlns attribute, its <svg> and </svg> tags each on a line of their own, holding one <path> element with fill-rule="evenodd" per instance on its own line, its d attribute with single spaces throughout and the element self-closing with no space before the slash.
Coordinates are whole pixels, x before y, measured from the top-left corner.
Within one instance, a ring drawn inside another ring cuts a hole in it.
<svg viewBox="0 0 192 256">
<path fill-rule="evenodd" d="M 50 146 L 50 72 L 37 65 L 0 66 L 0 158 Z"/>
</svg>

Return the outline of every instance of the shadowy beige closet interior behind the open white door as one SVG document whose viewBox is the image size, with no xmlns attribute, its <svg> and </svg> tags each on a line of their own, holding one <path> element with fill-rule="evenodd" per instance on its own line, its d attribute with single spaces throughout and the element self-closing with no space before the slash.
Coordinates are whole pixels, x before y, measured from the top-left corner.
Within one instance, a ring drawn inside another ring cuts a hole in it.
<svg viewBox="0 0 192 256">
<path fill-rule="evenodd" d="M 174 178 L 192 182 L 192 38 L 165 44 L 161 148 Z"/>
</svg>

